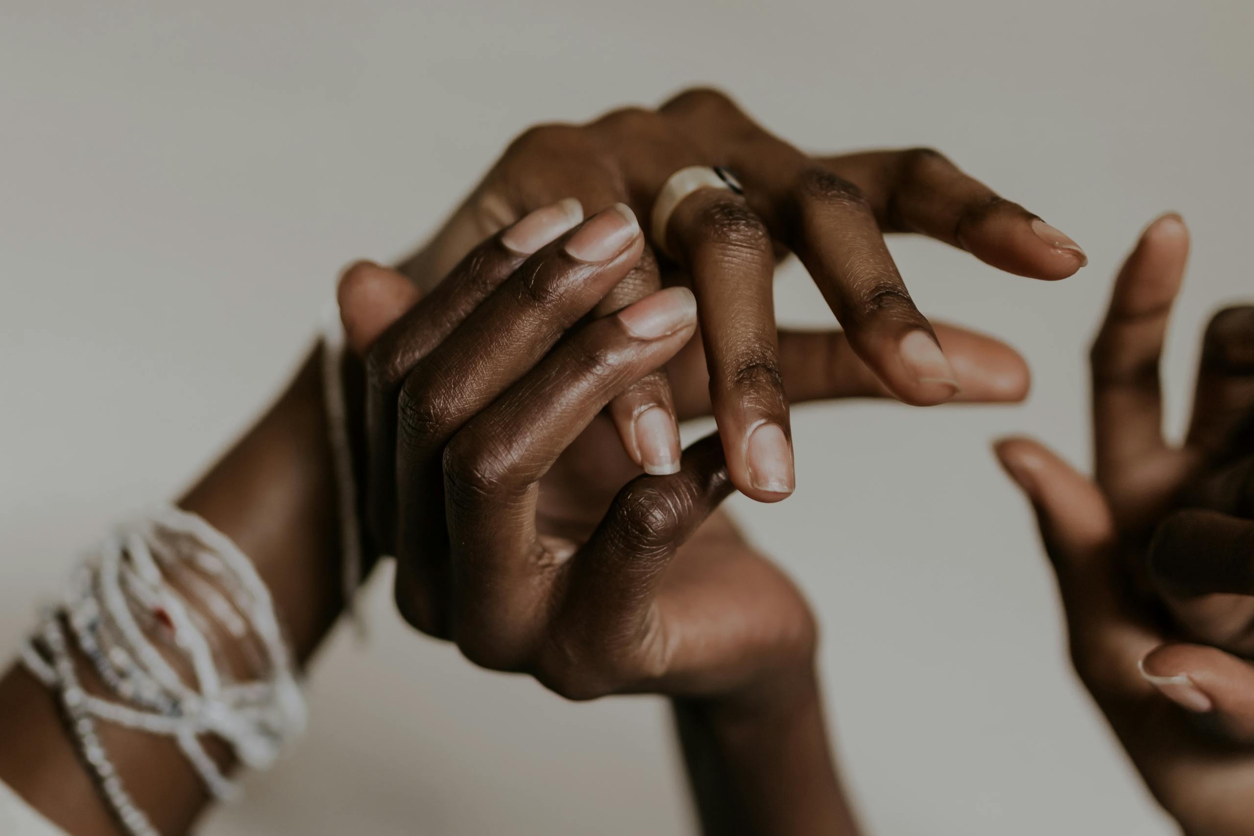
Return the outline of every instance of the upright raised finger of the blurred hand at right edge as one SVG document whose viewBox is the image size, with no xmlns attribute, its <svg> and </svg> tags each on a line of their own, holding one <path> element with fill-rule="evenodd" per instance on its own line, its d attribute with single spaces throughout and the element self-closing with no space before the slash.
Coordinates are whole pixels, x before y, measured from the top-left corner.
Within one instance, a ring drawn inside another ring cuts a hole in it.
<svg viewBox="0 0 1254 836">
<path fill-rule="evenodd" d="M 1159 360 L 1188 256 L 1189 231 L 1166 214 L 1145 229 L 1115 280 L 1091 352 L 1099 484 L 1166 449 Z"/>
</svg>

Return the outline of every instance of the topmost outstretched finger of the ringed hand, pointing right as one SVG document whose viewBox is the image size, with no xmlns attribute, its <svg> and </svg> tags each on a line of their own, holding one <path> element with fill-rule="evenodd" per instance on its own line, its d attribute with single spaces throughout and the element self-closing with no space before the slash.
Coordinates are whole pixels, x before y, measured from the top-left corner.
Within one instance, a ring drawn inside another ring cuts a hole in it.
<svg viewBox="0 0 1254 836">
<path fill-rule="evenodd" d="M 829 157 L 858 185 L 885 232 L 915 232 L 1018 276 L 1057 280 L 1088 258 L 1060 229 L 999 197 L 930 148 Z"/>
</svg>

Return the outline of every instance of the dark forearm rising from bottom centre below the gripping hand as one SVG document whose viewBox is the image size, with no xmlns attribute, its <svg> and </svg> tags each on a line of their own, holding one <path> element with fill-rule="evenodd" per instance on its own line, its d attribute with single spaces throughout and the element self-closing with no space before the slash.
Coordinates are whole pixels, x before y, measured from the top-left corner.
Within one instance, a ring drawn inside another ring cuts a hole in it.
<svg viewBox="0 0 1254 836">
<path fill-rule="evenodd" d="M 858 833 L 811 669 L 752 699 L 672 701 L 706 836 Z"/>
</svg>

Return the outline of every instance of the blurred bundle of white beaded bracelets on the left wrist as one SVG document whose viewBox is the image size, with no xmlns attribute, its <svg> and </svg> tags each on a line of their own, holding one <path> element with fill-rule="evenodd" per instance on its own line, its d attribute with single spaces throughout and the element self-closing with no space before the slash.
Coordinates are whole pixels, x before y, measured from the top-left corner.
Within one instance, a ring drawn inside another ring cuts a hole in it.
<svg viewBox="0 0 1254 836">
<path fill-rule="evenodd" d="M 251 678 L 232 676 L 219 630 L 234 639 L 232 648 L 251 648 Z M 71 640 L 109 698 L 83 688 Z M 192 683 L 173 659 L 191 669 Z M 95 721 L 173 738 L 207 790 L 224 800 L 238 790 L 202 736 L 219 737 L 245 765 L 265 768 L 305 727 L 305 699 L 265 582 L 224 534 L 174 508 L 119 526 L 83 560 L 23 661 L 59 693 L 79 753 L 134 836 L 157 831 L 123 787 Z"/>
</svg>

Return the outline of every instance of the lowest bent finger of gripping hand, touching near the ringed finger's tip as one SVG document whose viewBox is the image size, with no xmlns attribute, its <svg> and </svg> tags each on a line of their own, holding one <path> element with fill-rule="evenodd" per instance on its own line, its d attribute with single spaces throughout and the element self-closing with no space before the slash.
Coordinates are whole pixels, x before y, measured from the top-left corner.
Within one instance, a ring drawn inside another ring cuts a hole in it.
<svg viewBox="0 0 1254 836">
<path fill-rule="evenodd" d="M 554 632 L 587 659 L 586 687 L 608 693 L 668 673 L 678 637 L 667 637 L 657 590 L 676 550 L 726 499 L 732 484 L 711 435 L 683 451 L 671 476 L 642 476 L 614 498 L 569 563 Z M 569 659 L 559 659 L 568 667 Z M 591 667 L 591 669 L 588 669 Z"/>
</svg>

